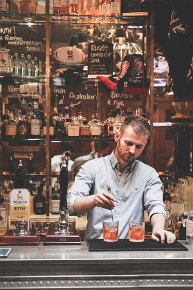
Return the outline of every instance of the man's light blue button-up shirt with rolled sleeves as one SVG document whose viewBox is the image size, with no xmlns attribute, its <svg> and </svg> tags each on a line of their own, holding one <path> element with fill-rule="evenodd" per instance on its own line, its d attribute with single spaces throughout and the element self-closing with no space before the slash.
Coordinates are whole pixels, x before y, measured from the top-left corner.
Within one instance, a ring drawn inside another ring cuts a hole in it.
<svg viewBox="0 0 193 290">
<path fill-rule="evenodd" d="M 76 215 L 76 198 L 96 195 L 101 190 L 107 190 L 107 185 L 111 186 L 111 194 L 116 199 L 113 217 L 114 221 L 119 221 L 119 239 L 129 237 L 129 220 L 143 220 L 144 206 L 149 218 L 155 213 L 166 218 L 162 182 L 155 169 L 135 160 L 121 173 L 114 151 L 104 158 L 88 161 L 81 167 L 68 192 L 69 214 Z M 102 221 L 112 221 L 111 210 L 93 208 L 89 213 L 85 239 L 103 238 Z"/>
</svg>

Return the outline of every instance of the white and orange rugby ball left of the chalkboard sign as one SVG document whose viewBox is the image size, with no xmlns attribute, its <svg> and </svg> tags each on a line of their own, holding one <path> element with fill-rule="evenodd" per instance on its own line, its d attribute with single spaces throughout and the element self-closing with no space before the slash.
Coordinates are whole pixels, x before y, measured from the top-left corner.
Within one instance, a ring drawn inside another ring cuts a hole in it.
<svg viewBox="0 0 193 290">
<path fill-rule="evenodd" d="M 51 59 L 61 64 L 83 64 L 85 61 L 85 54 L 79 48 L 64 46 L 52 52 Z"/>
</svg>

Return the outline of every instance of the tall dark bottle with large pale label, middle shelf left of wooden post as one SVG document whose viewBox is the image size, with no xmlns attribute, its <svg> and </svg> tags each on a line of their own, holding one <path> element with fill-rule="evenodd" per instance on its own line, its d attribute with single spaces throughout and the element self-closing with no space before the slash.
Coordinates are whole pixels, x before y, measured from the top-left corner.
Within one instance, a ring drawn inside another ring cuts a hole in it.
<svg viewBox="0 0 193 290">
<path fill-rule="evenodd" d="M 38 103 L 33 104 L 33 114 L 31 116 L 31 138 L 40 138 L 41 134 L 41 119 L 38 111 Z"/>
</svg>

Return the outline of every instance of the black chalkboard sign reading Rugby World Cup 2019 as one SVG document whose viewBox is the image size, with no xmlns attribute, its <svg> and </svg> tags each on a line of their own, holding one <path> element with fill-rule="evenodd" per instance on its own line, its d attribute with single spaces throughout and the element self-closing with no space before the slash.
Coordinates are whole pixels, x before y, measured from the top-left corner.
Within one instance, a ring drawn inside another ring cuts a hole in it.
<svg viewBox="0 0 193 290">
<path fill-rule="evenodd" d="M 113 44 L 106 41 L 96 41 L 88 48 L 88 73 L 113 74 Z"/>
</svg>

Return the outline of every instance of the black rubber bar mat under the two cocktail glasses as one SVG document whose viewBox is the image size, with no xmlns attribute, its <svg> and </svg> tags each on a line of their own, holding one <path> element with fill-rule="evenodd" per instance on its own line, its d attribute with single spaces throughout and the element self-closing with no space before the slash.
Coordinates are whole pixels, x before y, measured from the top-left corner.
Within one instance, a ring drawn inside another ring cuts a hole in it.
<svg viewBox="0 0 193 290">
<path fill-rule="evenodd" d="M 104 242 L 103 240 L 86 240 L 89 252 L 101 251 L 133 251 L 133 250 L 188 250 L 180 242 L 175 241 L 172 244 L 166 242 L 154 242 L 151 239 L 145 239 L 144 242 L 134 243 L 128 239 L 120 239 L 117 242 Z"/>
</svg>

